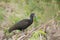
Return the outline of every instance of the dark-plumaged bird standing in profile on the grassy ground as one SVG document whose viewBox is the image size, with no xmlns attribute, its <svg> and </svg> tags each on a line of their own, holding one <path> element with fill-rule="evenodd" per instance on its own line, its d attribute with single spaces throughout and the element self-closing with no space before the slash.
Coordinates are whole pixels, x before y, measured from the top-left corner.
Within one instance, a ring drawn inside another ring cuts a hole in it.
<svg viewBox="0 0 60 40">
<path fill-rule="evenodd" d="M 27 27 L 29 27 L 33 23 L 33 17 L 34 13 L 30 15 L 30 19 L 23 19 L 19 22 L 17 22 L 13 27 L 9 28 L 9 32 L 12 32 L 13 30 L 25 30 Z"/>
</svg>

